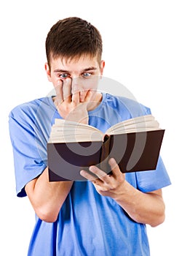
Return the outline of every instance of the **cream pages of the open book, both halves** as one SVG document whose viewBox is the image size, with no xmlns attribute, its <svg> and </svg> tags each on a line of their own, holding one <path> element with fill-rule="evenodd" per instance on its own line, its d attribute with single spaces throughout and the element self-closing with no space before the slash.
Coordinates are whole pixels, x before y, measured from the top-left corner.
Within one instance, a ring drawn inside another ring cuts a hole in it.
<svg viewBox="0 0 182 256">
<path fill-rule="evenodd" d="M 158 121 L 154 116 L 138 116 L 121 121 L 107 129 L 105 134 L 117 135 L 129 132 L 143 132 L 156 130 L 159 128 Z M 90 126 L 89 124 L 77 123 L 75 121 L 66 121 L 56 118 L 52 125 L 49 143 L 66 143 L 81 141 L 100 141 L 103 140 L 103 132 Z"/>
</svg>

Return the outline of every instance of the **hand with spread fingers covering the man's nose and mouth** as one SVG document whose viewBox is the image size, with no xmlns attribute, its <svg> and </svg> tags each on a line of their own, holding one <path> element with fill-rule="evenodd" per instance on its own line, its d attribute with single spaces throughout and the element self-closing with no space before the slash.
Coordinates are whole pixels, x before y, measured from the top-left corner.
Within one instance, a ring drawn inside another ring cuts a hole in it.
<svg viewBox="0 0 182 256">
<path fill-rule="evenodd" d="M 56 86 L 55 106 L 66 120 L 88 124 L 87 105 L 92 98 L 92 91 L 79 91 L 71 88 L 71 78 L 59 80 Z"/>
</svg>

